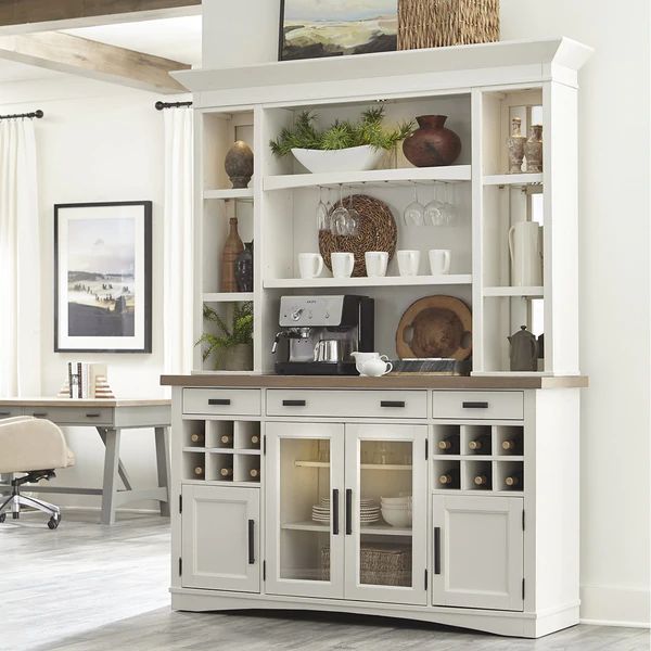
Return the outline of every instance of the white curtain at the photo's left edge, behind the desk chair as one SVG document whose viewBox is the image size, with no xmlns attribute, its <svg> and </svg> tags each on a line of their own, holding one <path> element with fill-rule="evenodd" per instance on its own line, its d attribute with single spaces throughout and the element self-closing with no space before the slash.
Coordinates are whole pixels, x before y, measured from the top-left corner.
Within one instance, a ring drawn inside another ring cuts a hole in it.
<svg viewBox="0 0 651 651">
<path fill-rule="evenodd" d="M 0 396 L 39 396 L 40 238 L 34 123 L 0 120 Z"/>
</svg>

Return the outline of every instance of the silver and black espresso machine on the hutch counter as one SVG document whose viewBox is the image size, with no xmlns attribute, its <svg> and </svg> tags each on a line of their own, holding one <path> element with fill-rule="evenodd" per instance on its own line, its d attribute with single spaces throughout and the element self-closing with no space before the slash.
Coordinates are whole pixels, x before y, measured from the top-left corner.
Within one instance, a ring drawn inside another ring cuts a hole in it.
<svg viewBox="0 0 651 651">
<path fill-rule="evenodd" d="M 350 353 L 375 347 L 368 296 L 281 296 L 279 324 L 271 353 L 281 375 L 357 375 Z"/>
</svg>

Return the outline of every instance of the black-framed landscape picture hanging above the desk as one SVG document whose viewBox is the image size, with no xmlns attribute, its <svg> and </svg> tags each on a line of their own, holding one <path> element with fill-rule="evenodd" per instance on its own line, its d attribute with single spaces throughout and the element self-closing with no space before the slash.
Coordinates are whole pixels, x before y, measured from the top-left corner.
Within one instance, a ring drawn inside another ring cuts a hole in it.
<svg viewBox="0 0 651 651">
<path fill-rule="evenodd" d="M 54 206 L 54 350 L 151 353 L 152 202 Z"/>
</svg>

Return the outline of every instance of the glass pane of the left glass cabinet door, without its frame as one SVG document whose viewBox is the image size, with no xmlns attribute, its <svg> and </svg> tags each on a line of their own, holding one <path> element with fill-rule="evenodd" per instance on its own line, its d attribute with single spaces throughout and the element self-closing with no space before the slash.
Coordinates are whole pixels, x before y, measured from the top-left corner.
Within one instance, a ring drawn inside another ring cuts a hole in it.
<svg viewBox="0 0 651 651">
<path fill-rule="evenodd" d="M 280 578 L 330 580 L 330 441 L 280 441 Z"/>
</svg>

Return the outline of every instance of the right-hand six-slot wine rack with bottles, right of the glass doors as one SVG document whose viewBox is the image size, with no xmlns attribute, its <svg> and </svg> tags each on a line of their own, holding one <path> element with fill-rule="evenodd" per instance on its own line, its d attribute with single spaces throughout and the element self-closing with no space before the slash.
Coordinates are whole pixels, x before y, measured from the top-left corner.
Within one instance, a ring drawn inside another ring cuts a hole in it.
<svg viewBox="0 0 651 651">
<path fill-rule="evenodd" d="M 433 426 L 432 488 L 435 493 L 522 493 L 524 426 Z"/>
</svg>

